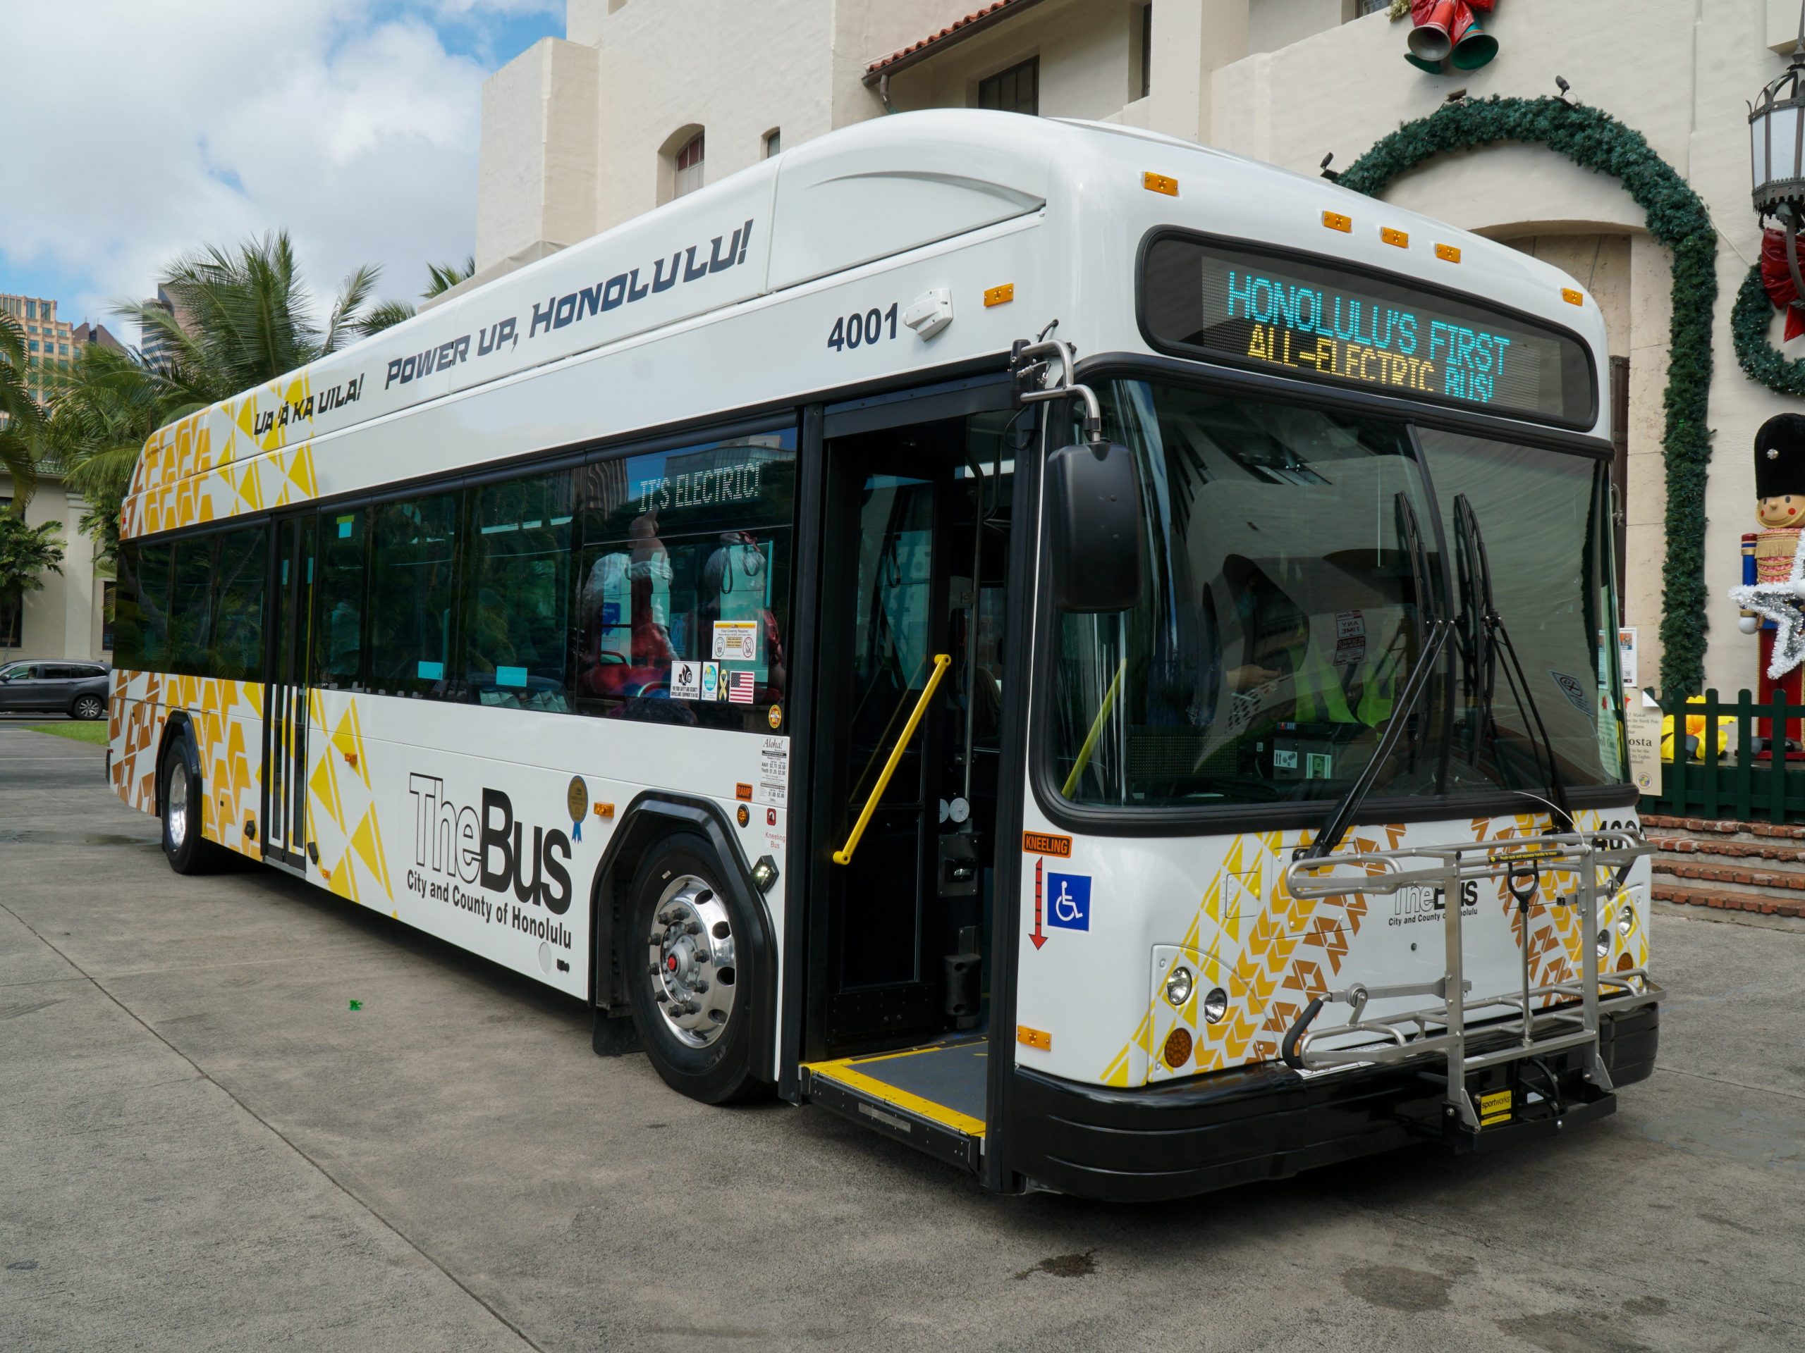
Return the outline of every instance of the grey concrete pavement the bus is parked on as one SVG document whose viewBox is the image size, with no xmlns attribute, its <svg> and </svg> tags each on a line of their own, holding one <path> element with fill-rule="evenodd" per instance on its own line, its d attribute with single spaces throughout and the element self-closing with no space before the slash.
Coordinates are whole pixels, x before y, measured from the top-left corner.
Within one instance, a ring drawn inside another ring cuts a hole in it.
<svg viewBox="0 0 1805 1353">
<path fill-rule="evenodd" d="M 1556 1149 L 991 1198 L 684 1100 L 579 1005 L 273 871 L 179 879 L 101 758 L 0 727 L 0 1349 L 1805 1340 L 1801 925 L 1661 911 L 1662 1066 Z"/>
</svg>

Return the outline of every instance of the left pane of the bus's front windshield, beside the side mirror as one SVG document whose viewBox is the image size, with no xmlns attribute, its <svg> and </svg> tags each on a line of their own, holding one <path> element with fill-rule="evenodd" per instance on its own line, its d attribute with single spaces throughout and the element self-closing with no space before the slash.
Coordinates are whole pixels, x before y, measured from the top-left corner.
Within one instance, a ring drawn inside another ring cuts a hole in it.
<svg viewBox="0 0 1805 1353">
<path fill-rule="evenodd" d="M 1054 785 L 1099 806 L 1341 797 L 1435 594 L 1408 429 L 1128 381 L 1105 411 L 1139 458 L 1150 566 L 1132 610 L 1058 617 Z M 1433 738 L 1404 740 L 1375 792 L 1433 790 L 1435 767 Z"/>
</svg>

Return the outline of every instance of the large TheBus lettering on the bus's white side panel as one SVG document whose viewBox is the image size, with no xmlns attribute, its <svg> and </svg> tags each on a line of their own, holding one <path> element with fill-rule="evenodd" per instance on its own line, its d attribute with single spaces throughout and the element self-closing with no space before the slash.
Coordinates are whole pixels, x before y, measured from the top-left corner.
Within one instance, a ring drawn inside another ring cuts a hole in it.
<svg viewBox="0 0 1805 1353">
<path fill-rule="evenodd" d="M 448 880 L 480 884 L 505 893 L 556 916 L 570 909 L 570 837 L 556 826 L 534 826 L 527 842 L 527 824 L 514 819 L 513 799 L 502 790 L 484 788 L 482 808 L 446 797 L 437 776 L 408 776 L 413 796 L 413 862 Z M 410 880 L 412 882 L 412 880 Z M 417 889 L 419 891 L 419 889 Z M 466 898 L 433 895 L 466 906 Z M 458 891 L 458 889 L 453 889 Z"/>
</svg>

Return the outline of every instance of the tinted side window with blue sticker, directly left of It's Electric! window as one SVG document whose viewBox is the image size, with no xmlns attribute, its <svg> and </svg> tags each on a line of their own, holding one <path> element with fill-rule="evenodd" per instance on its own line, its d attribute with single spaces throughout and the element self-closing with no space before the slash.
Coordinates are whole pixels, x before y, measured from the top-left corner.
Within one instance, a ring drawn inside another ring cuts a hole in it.
<svg viewBox="0 0 1805 1353">
<path fill-rule="evenodd" d="M 464 684 L 486 705 L 569 709 L 572 474 L 469 491 Z"/>
</svg>

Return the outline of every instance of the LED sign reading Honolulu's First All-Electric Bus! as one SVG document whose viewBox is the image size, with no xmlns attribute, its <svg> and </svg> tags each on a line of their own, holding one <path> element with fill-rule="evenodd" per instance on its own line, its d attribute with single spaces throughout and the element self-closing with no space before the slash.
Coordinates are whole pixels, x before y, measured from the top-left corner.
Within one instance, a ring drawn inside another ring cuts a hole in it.
<svg viewBox="0 0 1805 1353">
<path fill-rule="evenodd" d="M 1153 242 L 1141 287 L 1159 346 L 1406 399 L 1592 420 L 1587 350 L 1487 307 L 1186 238 Z"/>
</svg>

